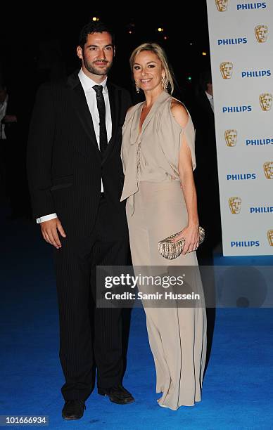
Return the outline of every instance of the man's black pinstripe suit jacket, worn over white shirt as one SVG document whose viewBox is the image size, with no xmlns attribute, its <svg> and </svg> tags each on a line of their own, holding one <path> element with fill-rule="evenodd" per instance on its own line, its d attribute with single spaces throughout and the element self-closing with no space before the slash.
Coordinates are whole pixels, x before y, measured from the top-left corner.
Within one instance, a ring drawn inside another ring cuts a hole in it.
<svg viewBox="0 0 273 430">
<path fill-rule="evenodd" d="M 101 176 L 106 198 L 122 214 L 120 222 L 125 222 L 120 145 L 131 100 L 128 91 L 107 83 L 112 138 L 102 156 L 77 73 L 67 82 L 43 84 L 37 92 L 27 171 L 34 218 L 56 212 L 65 228 L 85 233 L 94 226 Z"/>
</svg>

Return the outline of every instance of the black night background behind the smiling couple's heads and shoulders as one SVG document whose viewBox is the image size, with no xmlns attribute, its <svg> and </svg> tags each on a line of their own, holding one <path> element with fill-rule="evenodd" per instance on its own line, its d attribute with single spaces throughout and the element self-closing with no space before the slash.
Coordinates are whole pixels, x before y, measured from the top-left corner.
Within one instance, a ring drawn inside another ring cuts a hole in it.
<svg viewBox="0 0 273 430">
<path fill-rule="evenodd" d="M 11 219 L 22 214 L 30 218 L 25 152 L 37 89 L 43 82 L 63 79 L 80 69 L 78 35 L 92 17 L 99 17 L 115 33 L 116 56 L 110 79 L 130 91 L 134 104 L 144 96 L 134 89 L 129 56 L 139 44 L 154 41 L 165 48 L 173 67 L 177 81 L 174 97 L 193 113 L 198 77 L 209 67 L 210 59 L 205 0 L 186 6 L 181 3 L 179 12 L 167 2 L 146 3 L 134 7 L 116 3 L 115 8 L 105 4 L 101 9 L 82 2 L 74 6 L 57 2 L 1 6 L 0 85 L 8 89 L 8 114 L 17 118 L 15 124 L 6 125 L 8 141 L 0 145 L 0 195 L 1 201 L 8 202 Z M 158 27 L 164 31 L 158 32 Z"/>
</svg>

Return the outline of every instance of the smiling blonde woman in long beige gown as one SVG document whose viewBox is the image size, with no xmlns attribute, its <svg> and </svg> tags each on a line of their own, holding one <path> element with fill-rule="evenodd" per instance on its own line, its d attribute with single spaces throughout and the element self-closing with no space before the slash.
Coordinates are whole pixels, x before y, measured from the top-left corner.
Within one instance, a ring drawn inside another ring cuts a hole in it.
<svg viewBox="0 0 273 430">
<path fill-rule="evenodd" d="M 195 131 L 189 112 L 167 92 L 173 78 L 158 44 L 142 44 L 130 58 L 136 91 L 146 100 L 131 107 L 122 129 L 126 211 L 135 266 L 198 266 L 198 214 L 193 169 Z M 163 258 L 158 241 L 182 230 L 183 253 Z M 181 267 L 180 268 L 178 267 Z M 200 275 L 195 292 L 203 297 Z M 142 287 L 143 288 L 143 287 Z M 202 299 L 203 300 L 203 299 Z M 206 352 L 205 306 L 148 307 L 148 339 L 156 370 L 158 404 L 177 410 L 201 400 Z"/>
</svg>

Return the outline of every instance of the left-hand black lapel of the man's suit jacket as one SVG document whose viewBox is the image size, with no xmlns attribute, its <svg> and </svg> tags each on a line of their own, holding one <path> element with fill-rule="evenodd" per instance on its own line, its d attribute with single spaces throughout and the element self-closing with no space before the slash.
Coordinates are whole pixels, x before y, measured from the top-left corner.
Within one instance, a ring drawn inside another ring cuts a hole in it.
<svg viewBox="0 0 273 430">
<path fill-rule="evenodd" d="M 91 143 L 100 153 L 99 145 L 96 141 L 96 133 L 94 130 L 93 119 L 89 112 L 87 99 L 85 98 L 84 90 L 82 88 L 82 84 L 80 83 L 80 79 L 77 75 L 77 72 L 70 75 L 70 77 L 68 78 L 68 86 L 70 86 L 70 89 L 72 90 L 70 92 L 70 95 L 72 98 L 72 105 L 76 111 L 76 115 L 80 120 L 84 131 L 89 136 Z"/>
</svg>

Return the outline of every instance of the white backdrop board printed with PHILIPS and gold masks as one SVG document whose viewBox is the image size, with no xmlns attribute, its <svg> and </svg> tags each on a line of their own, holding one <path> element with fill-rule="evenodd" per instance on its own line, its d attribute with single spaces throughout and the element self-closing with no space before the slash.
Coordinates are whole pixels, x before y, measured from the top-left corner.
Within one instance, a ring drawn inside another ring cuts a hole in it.
<svg viewBox="0 0 273 430">
<path fill-rule="evenodd" d="M 272 255 L 273 0 L 207 7 L 223 253 Z"/>
</svg>

